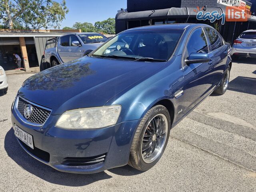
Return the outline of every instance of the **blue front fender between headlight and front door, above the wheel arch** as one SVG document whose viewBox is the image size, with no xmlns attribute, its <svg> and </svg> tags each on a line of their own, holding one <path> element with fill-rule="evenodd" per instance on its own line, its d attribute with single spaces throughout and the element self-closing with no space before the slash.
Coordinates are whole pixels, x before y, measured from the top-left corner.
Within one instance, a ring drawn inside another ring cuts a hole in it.
<svg viewBox="0 0 256 192">
<path fill-rule="evenodd" d="M 179 65 L 170 65 L 136 86 L 124 90 L 105 105 L 120 104 L 122 111 L 118 122 L 138 120 L 161 100 L 168 100 L 174 106 L 174 120 L 178 100 L 174 93 L 185 87 L 184 72 Z"/>
</svg>

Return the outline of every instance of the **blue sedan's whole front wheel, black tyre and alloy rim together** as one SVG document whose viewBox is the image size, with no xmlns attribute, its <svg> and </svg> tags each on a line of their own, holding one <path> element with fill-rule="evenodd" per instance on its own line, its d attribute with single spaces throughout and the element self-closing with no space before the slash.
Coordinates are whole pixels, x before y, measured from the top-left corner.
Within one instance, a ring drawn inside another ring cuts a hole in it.
<svg viewBox="0 0 256 192">
<path fill-rule="evenodd" d="M 146 171 L 161 158 L 170 135 L 170 114 L 157 105 L 142 118 L 132 141 L 128 164 L 135 169 Z"/>
</svg>

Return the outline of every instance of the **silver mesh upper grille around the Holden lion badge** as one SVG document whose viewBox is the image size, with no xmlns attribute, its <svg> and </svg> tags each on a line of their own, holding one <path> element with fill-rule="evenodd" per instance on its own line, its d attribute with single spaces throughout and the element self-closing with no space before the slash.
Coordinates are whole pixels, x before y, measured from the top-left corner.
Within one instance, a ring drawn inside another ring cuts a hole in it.
<svg viewBox="0 0 256 192">
<path fill-rule="evenodd" d="M 41 108 L 39 106 L 36 106 L 36 105 L 34 105 L 30 102 L 27 102 L 24 99 L 19 97 L 18 98 L 18 111 L 20 112 L 20 114 L 23 117 L 24 117 L 24 109 L 28 104 L 32 105 L 33 110 L 32 110 L 32 114 L 30 115 L 30 118 L 28 118 L 27 120 L 29 122 L 36 123 L 36 124 L 44 124 L 44 122 L 50 115 L 51 111 Z"/>
</svg>

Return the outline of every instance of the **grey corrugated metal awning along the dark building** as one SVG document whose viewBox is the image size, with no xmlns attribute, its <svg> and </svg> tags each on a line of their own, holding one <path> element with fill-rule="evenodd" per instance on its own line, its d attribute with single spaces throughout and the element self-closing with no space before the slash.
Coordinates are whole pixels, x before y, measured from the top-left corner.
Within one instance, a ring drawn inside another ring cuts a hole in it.
<svg viewBox="0 0 256 192">
<path fill-rule="evenodd" d="M 118 20 L 129 20 L 129 19 L 143 19 L 143 18 L 158 18 L 158 17 L 168 17 L 168 16 L 196 16 L 199 11 L 203 13 L 217 11 L 219 14 L 225 12 L 220 7 L 217 8 L 207 8 L 206 10 L 198 10 L 196 7 L 172 7 L 168 9 L 159 10 L 148 10 L 148 11 L 138 11 L 138 12 L 120 12 L 116 15 Z"/>
</svg>

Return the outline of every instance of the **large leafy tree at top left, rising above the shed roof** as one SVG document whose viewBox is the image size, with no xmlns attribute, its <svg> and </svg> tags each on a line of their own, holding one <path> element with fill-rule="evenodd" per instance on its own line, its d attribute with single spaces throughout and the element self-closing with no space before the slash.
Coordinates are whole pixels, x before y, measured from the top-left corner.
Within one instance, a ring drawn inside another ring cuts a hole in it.
<svg viewBox="0 0 256 192">
<path fill-rule="evenodd" d="M 59 28 L 67 13 L 65 0 L 0 0 L 0 18 L 9 29 L 14 22 L 27 29 Z"/>
</svg>

